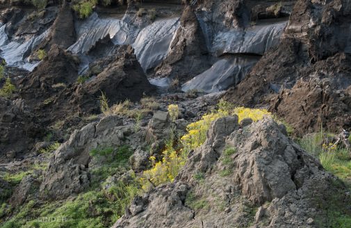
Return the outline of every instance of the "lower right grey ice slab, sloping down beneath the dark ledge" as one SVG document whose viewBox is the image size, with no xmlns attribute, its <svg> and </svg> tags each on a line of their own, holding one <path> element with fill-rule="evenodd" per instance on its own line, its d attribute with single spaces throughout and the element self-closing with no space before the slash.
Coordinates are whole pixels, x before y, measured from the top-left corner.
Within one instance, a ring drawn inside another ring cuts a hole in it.
<svg viewBox="0 0 351 228">
<path fill-rule="evenodd" d="M 195 76 L 181 87 L 184 92 L 200 90 L 218 92 L 239 83 L 257 63 L 257 57 L 225 56 L 218 60 L 209 70 Z"/>
</svg>

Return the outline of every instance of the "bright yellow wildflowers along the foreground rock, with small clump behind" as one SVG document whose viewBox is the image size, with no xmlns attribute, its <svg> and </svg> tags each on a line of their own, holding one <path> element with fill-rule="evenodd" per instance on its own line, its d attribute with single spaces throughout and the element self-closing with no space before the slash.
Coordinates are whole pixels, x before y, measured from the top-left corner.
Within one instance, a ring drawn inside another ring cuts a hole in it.
<svg viewBox="0 0 351 228">
<path fill-rule="evenodd" d="M 174 105 L 168 106 L 168 111 L 170 111 L 170 113 L 176 113 L 177 111 L 178 113 L 178 106 L 173 106 Z M 218 111 L 203 115 L 201 120 L 188 124 L 188 133 L 181 137 L 181 145 L 183 148 L 175 150 L 172 147 L 173 142 L 170 142 L 162 154 L 163 158 L 161 161 L 155 163 L 156 158 L 151 156 L 149 159 L 152 161 L 153 168 L 146 170 L 142 174 L 142 178 L 140 178 L 142 189 L 149 190 L 152 186 L 158 186 L 173 181 L 174 177 L 177 177 L 179 170 L 185 165 L 188 153 L 204 143 L 206 140 L 206 133 L 211 126 L 211 122 L 214 120 L 235 114 L 238 115 L 239 122 L 245 118 L 251 118 L 253 121 L 257 121 L 261 120 L 264 115 L 271 115 L 266 109 L 238 107 L 233 110 L 232 108 L 226 107 L 227 105 L 225 108 L 220 106 Z M 170 115 L 172 120 L 175 120 L 172 114 Z"/>
</svg>

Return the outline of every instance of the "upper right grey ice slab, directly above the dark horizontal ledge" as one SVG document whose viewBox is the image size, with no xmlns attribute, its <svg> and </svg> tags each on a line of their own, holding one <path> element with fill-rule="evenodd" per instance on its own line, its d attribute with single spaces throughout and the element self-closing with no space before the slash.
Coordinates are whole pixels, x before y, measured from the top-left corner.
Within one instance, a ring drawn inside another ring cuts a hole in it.
<svg viewBox="0 0 351 228">
<path fill-rule="evenodd" d="M 259 54 L 279 43 L 287 22 L 252 26 L 245 30 L 220 32 L 213 38 L 211 51 L 215 54 Z"/>
</svg>

